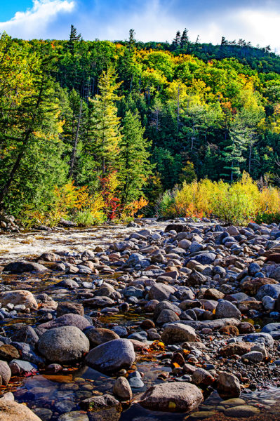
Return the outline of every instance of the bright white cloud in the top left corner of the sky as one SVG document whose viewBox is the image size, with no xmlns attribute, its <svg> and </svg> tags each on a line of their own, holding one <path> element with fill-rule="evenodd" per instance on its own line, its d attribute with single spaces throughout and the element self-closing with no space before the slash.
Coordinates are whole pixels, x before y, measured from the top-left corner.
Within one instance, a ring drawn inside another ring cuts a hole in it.
<svg viewBox="0 0 280 421">
<path fill-rule="evenodd" d="M 48 24 L 60 13 L 72 12 L 74 6 L 74 0 L 33 0 L 32 8 L 15 13 L 11 20 L 0 22 L 0 32 L 6 31 L 23 39 L 44 38 Z"/>
</svg>

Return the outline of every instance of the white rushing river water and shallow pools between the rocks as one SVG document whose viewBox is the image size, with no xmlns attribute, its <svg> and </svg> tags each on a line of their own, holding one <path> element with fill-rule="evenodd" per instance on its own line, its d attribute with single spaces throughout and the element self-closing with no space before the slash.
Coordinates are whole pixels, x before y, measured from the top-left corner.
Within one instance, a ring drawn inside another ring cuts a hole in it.
<svg viewBox="0 0 280 421">
<path fill-rule="evenodd" d="M 164 223 L 152 220 L 145 221 L 145 227 L 147 225 L 151 225 L 153 229 L 162 229 L 164 227 Z M 13 260 L 38 256 L 46 251 L 61 251 L 71 254 L 83 252 L 85 249 L 94 249 L 95 246 L 108 246 L 109 243 L 116 241 L 116 239 L 126 238 L 127 234 L 134 230 L 135 228 L 126 228 L 122 225 L 107 225 L 86 229 L 57 229 L 52 232 L 1 233 L 0 265 Z M 55 277 L 57 282 L 58 279 L 63 279 L 65 275 L 58 274 Z M 90 281 L 91 276 L 84 276 L 83 279 Z M 47 292 L 58 301 L 71 300 L 72 302 L 79 302 L 79 296 L 74 291 L 67 291 L 59 295 L 55 293 L 55 290 L 51 289 L 55 281 L 51 280 L 50 276 L 46 274 L 41 276 L 32 274 L 20 276 L 2 275 L 0 276 L 0 281 L 8 283 L 13 289 L 19 288 L 20 284 L 24 283 L 24 288 L 31 290 L 32 293 Z M 145 315 L 141 314 L 139 316 L 138 314 L 129 313 L 129 315 L 102 316 L 101 321 L 105 323 L 105 326 L 108 326 L 110 323 L 135 326 L 142 318 L 145 318 Z M 0 323 L 0 330 L 4 328 L 8 335 L 13 332 L 15 323 L 28 323 L 35 326 L 39 322 L 32 315 L 27 315 L 21 319 L 5 319 L 5 321 Z M 133 389 L 134 403 L 128 407 L 124 406 L 121 413 L 115 408 L 92 413 L 89 418 L 90 421 L 280 420 L 280 389 L 276 387 L 264 387 L 257 391 L 244 389 L 240 396 L 244 400 L 243 404 L 260 410 L 258 415 L 251 415 L 246 418 L 225 415 L 227 408 L 234 406 L 234 404 L 236 405 L 236 403 L 222 401 L 216 392 L 206 396 L 204 403 L 192 414 L 156 413 L 146 410 L 137 403 L 142 392 L 147 387 L 157 382 L 162 382 L 162 380 L 158 379 L 158 376 L 171 369 L 161 366 L 152 355 L 141 357 L 141 359 L 136 361 L 136 366 L 140 372 L 144 373 L 145 387 Z M 114 379 L 111 377 L 80 365 L 66 367 L 57 374 L 50 375 L 41 372 L 31 377 L 13 377 L 8 390 L 13 392 L 18 402 L 25 402 L 29 408 L 35 410 L 43 421 L 57 421 L 62 413 L 70 411 L 72 411 L 72 417 L 65 417 L 63 421 L 88 421 L 88 415 L 79 408 L 79 401 L 92 396 L 92 394 L 112 393 L 113 384 Z"/>
</svg>

